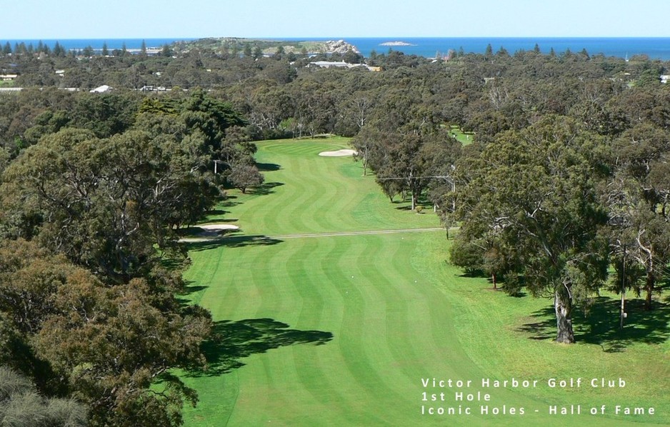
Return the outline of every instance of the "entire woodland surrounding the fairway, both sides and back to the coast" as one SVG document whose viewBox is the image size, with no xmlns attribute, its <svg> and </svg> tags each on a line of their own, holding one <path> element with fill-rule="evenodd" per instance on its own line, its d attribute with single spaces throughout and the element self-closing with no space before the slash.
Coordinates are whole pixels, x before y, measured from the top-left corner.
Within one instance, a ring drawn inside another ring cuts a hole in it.
<svg viewBox="0 0 670 427">
<path fill-rule="evenodd" d="M 0 58 L 24 87 L 0 95 L 0 364 L 84 403 L 94 425 L 179 425 L 196 400 L 170 370 L 201 366 L 210 319 L 175 297 L 176 231 L 224 186 L 262 182 L 254 140 L 353 136 L 391 201 L 459 226 L 452 262 L 553 297 L 558 341 L 574 341 L 576 306 L 621 290 L 624 264 L 647 308 L 668 277 L 660 61 L 389 51 L 366 59 L 376 72 L 254 49 L 54 50 Z M 115 90 L 59 89 L 102 84 Z"/>
</svg>

